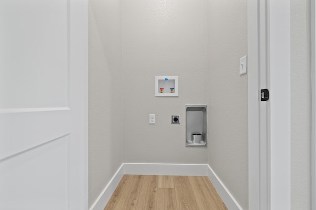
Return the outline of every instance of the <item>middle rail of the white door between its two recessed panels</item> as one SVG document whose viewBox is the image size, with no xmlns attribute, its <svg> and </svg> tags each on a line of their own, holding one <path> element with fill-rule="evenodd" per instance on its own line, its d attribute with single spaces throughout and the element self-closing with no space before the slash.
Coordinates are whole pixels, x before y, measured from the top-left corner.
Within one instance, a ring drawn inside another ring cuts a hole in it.
<svg viewBox="0 0 316 210">
<path fill-rule="evenodd" d="M 5 113 L 0 118 L 0 160 L 70 133 L 70 110 Z"/>
</svg>

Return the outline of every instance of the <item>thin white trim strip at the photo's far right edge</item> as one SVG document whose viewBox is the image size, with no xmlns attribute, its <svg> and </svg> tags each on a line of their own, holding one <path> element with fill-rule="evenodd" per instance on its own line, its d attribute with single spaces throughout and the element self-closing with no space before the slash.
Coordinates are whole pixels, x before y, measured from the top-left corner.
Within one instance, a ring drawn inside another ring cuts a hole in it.
<svg viewBox="0 0 316 210">
<path fill-rule="evenodd" d="M 311 0 L 311 84 L 312 84 L 312 133 L 311 133 L 311 191 L 312 210 L 316 210 L 316 3 Z"/>
</svg>

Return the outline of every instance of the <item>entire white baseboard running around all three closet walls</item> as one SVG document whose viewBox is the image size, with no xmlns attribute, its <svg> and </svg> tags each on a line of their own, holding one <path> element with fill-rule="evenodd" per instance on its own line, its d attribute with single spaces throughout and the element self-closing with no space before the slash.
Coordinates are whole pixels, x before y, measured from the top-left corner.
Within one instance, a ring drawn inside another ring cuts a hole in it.
<svg viewBox="0 0 316 210">
<path fill-rule="evenodd" d="M 207 176 L 229 210 L 242 210 L 214 171 L 206 164 L 123 163 L 89 210 L 103 210 L 123 175 Z"/>
</svg>

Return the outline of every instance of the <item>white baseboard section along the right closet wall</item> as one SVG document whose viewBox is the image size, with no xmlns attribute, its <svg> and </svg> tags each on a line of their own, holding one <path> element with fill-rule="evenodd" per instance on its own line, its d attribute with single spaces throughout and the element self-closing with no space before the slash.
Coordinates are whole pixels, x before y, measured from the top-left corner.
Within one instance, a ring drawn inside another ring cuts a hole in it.
<svg viewBox="0 0 316 210">
<path fill-rule="evenodd" d="M 212 182 L 213 186 L 215 187 L 217 193 L 219 194 L 219 196 L 223 200 L 227 209 L 229 209 L 229 210 L 242 210 L 240 205 L 237 203 L 236 199 L 229 192 L 229 190 L 226 188 L 224 183 L 217 177 L 217 175 L 214 173 L 212 168 L 209 165 L 207 165 L 207 168 L 208 168 L 207 177 Z"/>
</svg>

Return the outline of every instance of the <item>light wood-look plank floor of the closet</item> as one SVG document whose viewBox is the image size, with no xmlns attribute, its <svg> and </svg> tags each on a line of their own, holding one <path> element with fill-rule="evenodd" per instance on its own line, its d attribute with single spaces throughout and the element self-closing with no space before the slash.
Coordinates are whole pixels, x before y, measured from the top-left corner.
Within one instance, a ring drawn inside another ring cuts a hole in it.
<svg viewBox="0 0 316 210">
<path fill-rule="evenodd" d="M 227 210 L 207 177 L 124 175 L 104 210 Z"/>
</svg>

